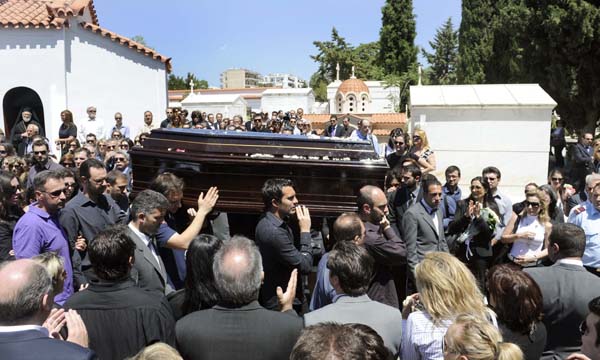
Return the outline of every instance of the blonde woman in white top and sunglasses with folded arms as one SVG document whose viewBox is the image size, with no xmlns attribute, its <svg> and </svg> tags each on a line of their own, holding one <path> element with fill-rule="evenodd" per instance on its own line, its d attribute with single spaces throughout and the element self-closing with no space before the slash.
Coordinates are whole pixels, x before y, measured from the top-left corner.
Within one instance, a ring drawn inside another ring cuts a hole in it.
<svg viewBox="0 0 600 360">
<path fill-rule="evenodd" d="M 502 238 L 512 244 L 508 258 L 522 267 L 537 266 L 548 256 L 548 238 L 552 223 L 548 215 L 546 195 L 537 190 L 527 194 L 525 208 L 518 215 L 513 213 Z"/>
</svg>

